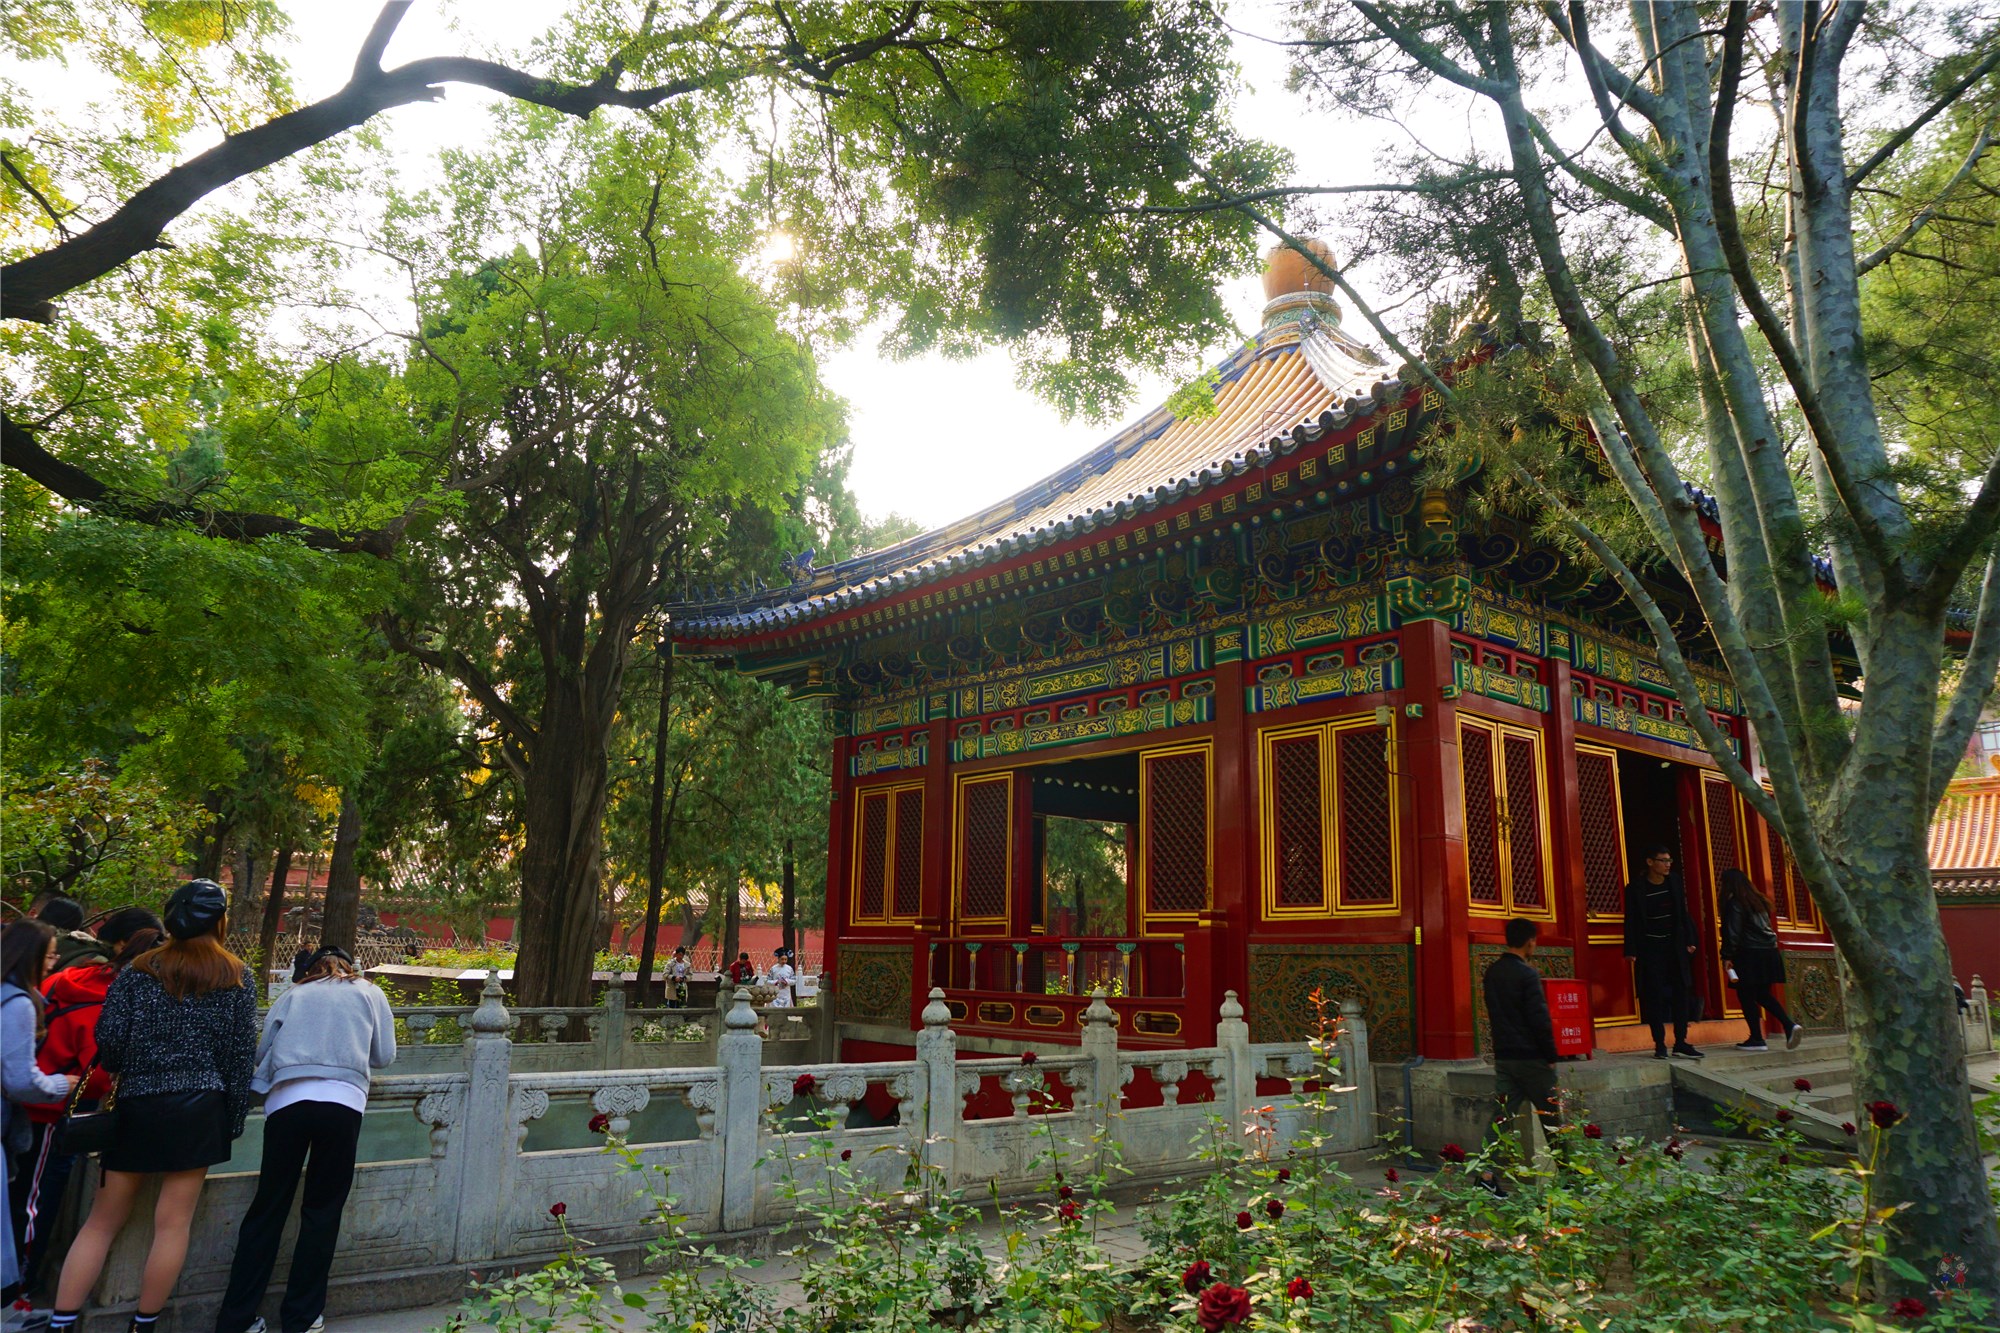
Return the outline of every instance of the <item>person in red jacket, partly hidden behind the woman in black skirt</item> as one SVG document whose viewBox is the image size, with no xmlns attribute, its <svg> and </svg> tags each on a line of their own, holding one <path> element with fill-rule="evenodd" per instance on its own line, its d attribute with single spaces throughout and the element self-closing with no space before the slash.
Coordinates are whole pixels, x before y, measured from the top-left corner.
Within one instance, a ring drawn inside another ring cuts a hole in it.
<svg viewBox="0 0 2000 1333">
<path fill-rule="evenodd" d="M 104 993 L 112 989 L 116 977 L 132 959 L 160 943 L 164 929 L 160 919 L 144 907 L 126 907 L 112 913 L 98 925 L 98 943 L 104 951 L 50 973 L 42 983 L 42 1015 L 48 1021 L 48 1037 L 36 1053 L 42 1073 L 80 1075 L 98 1057 L 98 1013 L 104 1009 Z M 84 1087 L 82 1105 L 94 1107 L 112 1089 L 112 1077 L 102 1069 L 90 1073 Z M 20 1219 L 16 1239 L 22 1249 L 22 1275 L 34 1275 L 48 1255 L 50 1223 L 62 1211 L 62 1191 L 76 1169 L 74 1153 L 56 1151 L 56 1121 L 62 1119 L 62 1103 L 34 1107 L 28 1121 L 34 1127 L 34 1147 L 28 1151 L 28 1179 L 22 1183 Z"/>
</svg>

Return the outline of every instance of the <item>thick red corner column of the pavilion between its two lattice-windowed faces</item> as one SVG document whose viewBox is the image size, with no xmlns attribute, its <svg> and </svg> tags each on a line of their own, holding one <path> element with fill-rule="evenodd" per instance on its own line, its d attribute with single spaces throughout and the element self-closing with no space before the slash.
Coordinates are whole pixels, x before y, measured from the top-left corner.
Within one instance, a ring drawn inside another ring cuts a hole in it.
<svg viewBox="0 0 2000 1333">
<path fill-rule="evenodd" d="M 1452 642 L 1444 620 L 1404 620 L 1402 761 L 1416 827 L 1416 1049 L 1472 1057 L 1472 941 L 1466 919 L 1466 813 Z"/>
</svg>

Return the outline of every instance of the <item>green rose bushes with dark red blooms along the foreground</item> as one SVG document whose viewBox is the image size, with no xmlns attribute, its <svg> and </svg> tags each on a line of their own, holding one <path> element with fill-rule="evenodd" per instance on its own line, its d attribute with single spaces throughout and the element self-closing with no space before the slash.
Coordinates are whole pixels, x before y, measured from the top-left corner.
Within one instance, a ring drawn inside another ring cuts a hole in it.
<svg viewBox="0 0 2000 1333">
<path fill-rule="evenodd" d="M 1338 1087 L 1336 1073 L 1314 1085 Z M 1214 1121 L 1192 1151 L 1200 1171 L 1142 1205 L 1144 1257 L 1132 1261 L 1102 1237 L 1126 1175 L 1114 1135 L 1072 1141 L 1064 1129 L 1086 1121 L 1034 1117 L 1042 1187 L 982 1199 L 944 1187 L 928 1127 L 846 1147 L 846 1107 L 818 1097 L 812 1075 L 794 1091 L 814 1097 L 814 1113 L 774 1139 L 800 1237 L 798 1301 L 780 1309 L 742 1275 L 750 1261 L 690 1237 L 664 1173 L 610 1137 L 604 1151 L 652 1179 L 650 1287 L 622 1289 L 556 1203 L 560 1257 L 476 1285 L 464 1321 L 498 1333 L 1994 1327 L 1962 1265 L 1926 1281 L 1888 1259 L 1896 1209 L 1870 1197 L 1874 1155 L 1900 1121 L 1886 1103 L 1866 1107 L 1876 1131 L 1858 1167 L 1816 1161 L 1778 1117 L 1700 1153 L 1678 1135 L 1648 1143 L 1572 1119 L 1550 1135 L 1546 1163 L 1516 1163 L 1504 1143 L 1458 1147 L 1442 1167 L 1398 1157 L 1382 1183 L 1360 1185 L 1318 1155 L 1334 1093 L 1308 1091 L 1288 1143 L 1268 1109 L 1246 1127 Z M 1476 1187 L 1488 1169 L 1508 1173 L 1504 1197 Z"/>
</svg>

